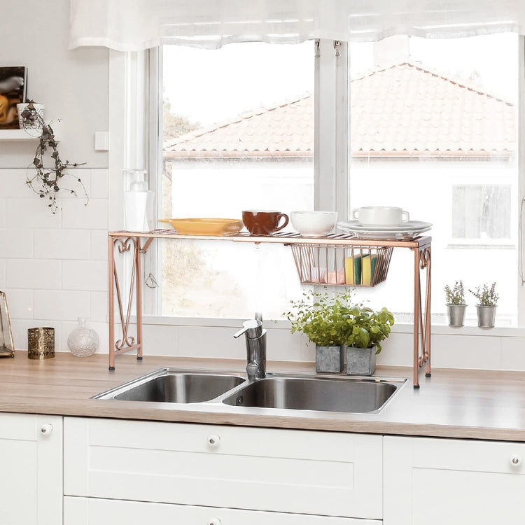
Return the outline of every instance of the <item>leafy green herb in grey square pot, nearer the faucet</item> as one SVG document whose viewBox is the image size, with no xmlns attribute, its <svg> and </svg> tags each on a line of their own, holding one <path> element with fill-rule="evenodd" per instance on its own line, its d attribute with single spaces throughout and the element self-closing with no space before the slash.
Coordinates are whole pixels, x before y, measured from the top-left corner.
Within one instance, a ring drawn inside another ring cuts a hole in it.
<svg viewBox="0 0 525 525">
<path fill-rule="evenodd" d="M 330 294 L 309 290 L 300 301 L 290 301 L 284 315 L 292 323 L 292 333 L 302 332 L 316 345 L 316 372 L 342 372 L 344 343 L 351 317 L 350 290 Z"/>
</svg>

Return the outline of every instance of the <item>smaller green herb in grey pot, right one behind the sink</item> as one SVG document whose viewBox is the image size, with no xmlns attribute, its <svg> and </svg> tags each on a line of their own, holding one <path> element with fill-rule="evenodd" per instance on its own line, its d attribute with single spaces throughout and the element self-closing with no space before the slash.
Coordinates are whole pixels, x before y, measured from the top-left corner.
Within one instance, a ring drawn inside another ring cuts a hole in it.
<svg viewBox="0 0 525 525">
<path fill-rule="evenodd" d="M 381 341 L 390 335 L 393 323 L 393 314 L 386 308 L 379 311 L 360 305 L 351 308 L 345 339 L 347 374 L 375 372 L 375 356 L 382 349 Z"/>
</svg>

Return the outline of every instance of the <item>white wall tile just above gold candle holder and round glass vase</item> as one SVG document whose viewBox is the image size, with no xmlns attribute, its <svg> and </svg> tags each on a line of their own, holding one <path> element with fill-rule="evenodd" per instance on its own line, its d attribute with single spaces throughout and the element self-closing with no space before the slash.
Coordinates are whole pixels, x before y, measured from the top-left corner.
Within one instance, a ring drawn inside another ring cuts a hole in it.
<svg viewBox="0 0 525 525">
<path fill-rule="evenodd" d="M 74 321 L 90 316 L 90 293 L 72 290 L 35 290 L 34 317 Z"/>
</svg>

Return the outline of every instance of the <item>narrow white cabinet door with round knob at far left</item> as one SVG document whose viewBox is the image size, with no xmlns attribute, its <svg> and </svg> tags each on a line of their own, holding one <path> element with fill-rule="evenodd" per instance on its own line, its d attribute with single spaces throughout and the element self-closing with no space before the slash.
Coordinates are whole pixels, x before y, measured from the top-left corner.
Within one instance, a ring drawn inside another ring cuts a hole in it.
<svg viewBox="0 0 525 525">
<path fill-rule="evenodd" d="M 0 524 L 62 524 L 62 417 L 0 414 Z"/>
</svg>

